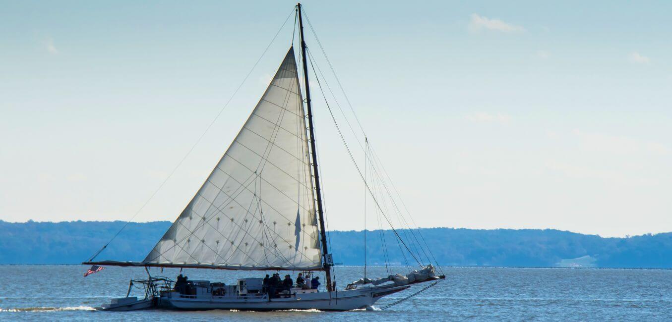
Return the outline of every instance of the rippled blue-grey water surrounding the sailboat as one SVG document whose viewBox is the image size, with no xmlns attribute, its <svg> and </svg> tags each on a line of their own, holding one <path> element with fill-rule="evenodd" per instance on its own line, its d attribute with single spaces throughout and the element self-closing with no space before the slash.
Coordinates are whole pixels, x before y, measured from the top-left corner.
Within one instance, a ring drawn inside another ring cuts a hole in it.
<svg viewBox="0 0 672 322">
<path fill-rule="evenodd" d="M 142 268 L 107 268 L 83 278 L 85 266 L 0 266 L 0 320 L 143 321 L 190 319 L 212 321 L 368 321 L 398 320 L 672 320 L 672 270 L 562 268 L 444 268 L 441 282 L 385 311 L 96 311 L 113 297 L 123 297 L 130 278 L 144 278 Z M 403 272 L 402 268 L 396 269 Z M 369 268 L 385 276 L 385 268 Z M 151 273 L 160 274 L 159 269 Z M 263 272 L 184 270 L 190 279 L 232 282 Z M 339 285 L 362 276 L 361 267 L 337 266 Z M 164 270 L 174 277 L 177 270 Z M 376 307 L 418 290 L 384 297 Z"/>
</svg>

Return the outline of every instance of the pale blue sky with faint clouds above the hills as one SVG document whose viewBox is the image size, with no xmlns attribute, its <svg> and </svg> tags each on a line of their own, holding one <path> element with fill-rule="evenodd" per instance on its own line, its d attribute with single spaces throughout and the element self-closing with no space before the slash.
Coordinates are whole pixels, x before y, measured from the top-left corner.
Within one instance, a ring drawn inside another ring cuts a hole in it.
<svg viewBox="0 0 672 322">
<path fill-rule="evenodd" d="M 130 218 L 295 4 L 0 3 L 6 221 Z M 672 3 L 304 7 L 421 227 L 672 231 Z M 292 19 L 134 220 L 183 209 L 282 60 Z M 327 68 L 312 36 L 308 46 Z M 315 108 L 329 225 L 362 229 L 364 188 Z"/>
</svg>

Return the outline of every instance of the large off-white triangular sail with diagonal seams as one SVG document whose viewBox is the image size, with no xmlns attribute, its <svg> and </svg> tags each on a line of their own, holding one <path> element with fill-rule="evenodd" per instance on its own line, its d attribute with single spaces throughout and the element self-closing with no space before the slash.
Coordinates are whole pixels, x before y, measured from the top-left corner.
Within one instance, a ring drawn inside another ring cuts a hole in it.
<svg viewBox="0 0 672 322">
<path fill-rule="evenodd" d="M 142 264 L 322 268 L 294 49 L 206 182 Z"/>
</svg>

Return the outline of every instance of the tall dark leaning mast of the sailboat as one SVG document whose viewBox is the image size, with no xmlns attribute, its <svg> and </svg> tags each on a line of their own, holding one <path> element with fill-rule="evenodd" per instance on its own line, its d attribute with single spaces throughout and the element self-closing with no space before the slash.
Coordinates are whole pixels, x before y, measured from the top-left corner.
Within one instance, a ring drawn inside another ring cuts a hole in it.
<svg viewBox="0 0 672 322">
<path fill-rule="evenodd" d="M 308 109 L 308 132 L 310 134 L 310 153 L 312 154 L 312 173 L 315 177 L 315 193 L 317 195 L 317 217 L 320 221 L 320 237 L 322 239 L 322 262 L 327 275 L 327 290 L 331 292 L 331 255 L 327 250 L 327 227 L 325 227 L 325 213 L 322 207 L 322 192 L 320 190 L 320 176 L 317 171 L 317 151 L 315 150 L 315 132 L 312 129 L 312 108 L 310 105 L 310 85 L 308 85 L 308 62 L 306 58 L 306 42 L 303 36 L 303 19 L 301 18 L 301 3 L 296 5 L 298 11 L 298 29 L 301 37 L 301 57 L 303 58 L 303 79 L 306 86 L 306 107 Z M 327 260 L 329 258 L 329 260 Z"/>
</svg>

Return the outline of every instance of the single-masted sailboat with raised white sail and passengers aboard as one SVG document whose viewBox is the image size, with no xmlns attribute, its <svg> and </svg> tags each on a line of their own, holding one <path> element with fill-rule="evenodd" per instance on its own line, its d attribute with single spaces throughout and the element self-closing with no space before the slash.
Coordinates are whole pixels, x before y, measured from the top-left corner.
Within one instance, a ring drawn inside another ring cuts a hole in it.
<svg viewBox="0 0 672 322">
<path fill-rule="evenodd" d="M 360 278 L 342 289 L 332 281 L 333 257 L 327 244 L 300 3 L 296 13 L 304 91 L 290 46 L 235 140 L 144 260 L 91 258 L 83 264 L 143 267 L 148 274 L 151 267 L 323 273 L 325 287 L 280 290 L 258 277 L 225 284 L 174 282 L 149 274 L 149 279 L 132 280 L 129 285 L 130 293 L 133 284 L 142 284 L 144 299 L 126 294 L 103 309 L 347 311 L 372 307 L 382 297 L 413 284 L 445 278 L 427 264 L 405 275 Z"/>
</svg>

